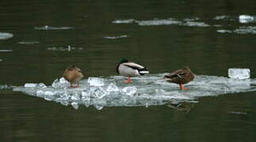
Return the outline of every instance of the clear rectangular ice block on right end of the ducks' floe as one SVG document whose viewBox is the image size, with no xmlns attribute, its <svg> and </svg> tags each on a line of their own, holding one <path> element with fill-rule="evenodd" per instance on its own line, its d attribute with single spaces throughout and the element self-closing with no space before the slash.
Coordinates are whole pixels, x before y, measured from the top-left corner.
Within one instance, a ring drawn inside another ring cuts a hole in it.
<svg viewBox="0 0 256 142">
<path fill-rule="evenodd" d="M 248 79 L 250 78 L 250 69 L 231 68 L 228 69 L 228 77 L 233 79 Z"/>
</svg>

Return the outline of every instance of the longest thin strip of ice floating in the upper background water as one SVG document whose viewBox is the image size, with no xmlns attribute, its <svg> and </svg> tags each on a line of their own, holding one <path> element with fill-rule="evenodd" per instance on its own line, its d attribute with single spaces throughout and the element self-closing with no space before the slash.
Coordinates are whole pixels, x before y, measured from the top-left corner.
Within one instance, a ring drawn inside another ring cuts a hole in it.
<svg viewBox="0 0 256 142">
<path fill-rule="evenodd" d="M 178 20 L 175 18 L 167 18 L 167 19 L 158 19 L 155 18 L 153 20 L 147 21 L 136 21 L 133 19 L 128 20 L 116 20 L 113 21 L 114 24 L 139 24 L 140 26 L 155 26 L 155 25 L 182 25 L 182 26 L 189 26 L 189 27 L 209 27 L 211 25 L 205 24 L 204 22 L 199 21 L 199 17 L 192 17 L 192 18 L 185 18 L 183 20 Z"/>
</svg>

